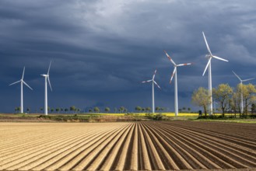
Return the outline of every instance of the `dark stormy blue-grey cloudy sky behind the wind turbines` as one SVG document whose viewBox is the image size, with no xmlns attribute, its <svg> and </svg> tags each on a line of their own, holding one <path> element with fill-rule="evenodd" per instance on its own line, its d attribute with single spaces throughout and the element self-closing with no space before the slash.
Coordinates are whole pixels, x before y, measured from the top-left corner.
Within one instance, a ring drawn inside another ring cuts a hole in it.
<svg viewBox="0 0 256 171">
<path fill-rule="evenodd" d="M 191 95 L 208 87 L 207 49 L 229 62 L 212 60 L 212 87 L 237 86 L 256 76 L 256 2 L 254 0 L 2 0 L 0 1 L 0 112 L 20 103 L 19 81 L 26 67 L 24 108 L 44 106 L 44 78 L 52 61 L 48 106 L 151 106 L 156 72 L 156 106 L 174 111 L 177 63 L 179 108 L 191 107 Z M 256 83 L 252 81 L 251 83 Z"/>
</svg>

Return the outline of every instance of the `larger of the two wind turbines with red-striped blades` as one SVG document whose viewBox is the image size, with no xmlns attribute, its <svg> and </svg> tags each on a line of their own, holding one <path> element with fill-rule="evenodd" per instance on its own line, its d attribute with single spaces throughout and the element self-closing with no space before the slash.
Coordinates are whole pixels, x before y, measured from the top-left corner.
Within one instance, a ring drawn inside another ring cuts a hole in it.
<svg viewBox="0 0 256 171">
<path fill-rule="evenodd" d="M 192 63 L 187 63 L 187 64 L 180 64 L 176 65 L 175 62 L 170 58 L 169 54 L 167 54 L 167 51 L 164 51 L 164 53 L 167 55 L 167 58 L 170 59 L 171 63 L 174 65 L 174 72 L 173 75 L 171 75 L 170 78 L 170 83 L 174 78 L 175 75 L 175 83 L 174 83 L 174 89 L 175 89 L 175 96 L 174 96 L 174 108 L 175 108 L 175 116 L 178 115 L 178 101 L 177 101 L 177 67 L 184 66 L 184 65 L 191 65 Z"/>
</svg>

